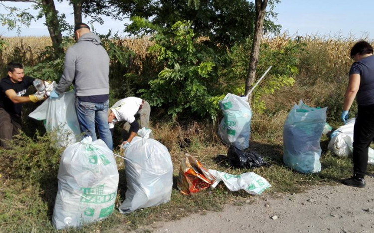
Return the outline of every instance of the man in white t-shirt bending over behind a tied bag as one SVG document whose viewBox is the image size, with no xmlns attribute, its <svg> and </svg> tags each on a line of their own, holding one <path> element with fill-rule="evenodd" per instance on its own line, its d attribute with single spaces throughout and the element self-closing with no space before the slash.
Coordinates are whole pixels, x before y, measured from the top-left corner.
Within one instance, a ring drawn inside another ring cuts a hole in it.
<svg viewBox="0 0 374 233">
<path fill-rule="evenodd" d="M 137 97 L 128 97 L 117 101 L 110 108 L 108 123 L 112 135 L 115 122 L 126 121 L 123 126 L 122 148 L 126 148 L 129 145 L 131 140 L 136 136 L 139 128 L 148 127 L 150 114 L 151 107 L 149 103 Z M 140 125 L 138 119 L 140 120 Z M 150 138 L 153 138 L 152 132 Z"/>
</svg>

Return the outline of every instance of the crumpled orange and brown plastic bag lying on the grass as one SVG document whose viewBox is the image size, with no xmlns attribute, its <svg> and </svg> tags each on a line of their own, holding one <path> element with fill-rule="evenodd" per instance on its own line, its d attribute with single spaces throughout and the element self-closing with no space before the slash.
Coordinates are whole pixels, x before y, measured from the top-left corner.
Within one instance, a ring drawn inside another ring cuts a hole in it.
<svg viewBox="0 0 374 233">
<path fill-rule="evenodd" d="M 186 153 L 179 169 L 177 186 L 181 193 L 190 195 L 200 190 L 209 188 L 215 182 L 215 178 L 201 163 Z"/>
</svg>

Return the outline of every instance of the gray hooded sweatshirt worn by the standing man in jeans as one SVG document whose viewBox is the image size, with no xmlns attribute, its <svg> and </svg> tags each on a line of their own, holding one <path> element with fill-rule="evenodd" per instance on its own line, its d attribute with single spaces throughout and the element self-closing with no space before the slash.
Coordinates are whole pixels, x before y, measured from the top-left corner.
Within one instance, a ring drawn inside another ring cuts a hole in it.
<svg viewBox="0 0 374 233">
<path fill-rule="evenodd" d="M 56 87 L 61 94 L 74 83 L 77 96 L 109 94 L 109 56 L 94 33 L 82 35 L 65 55 L 64 72 Z"/>
</svg>

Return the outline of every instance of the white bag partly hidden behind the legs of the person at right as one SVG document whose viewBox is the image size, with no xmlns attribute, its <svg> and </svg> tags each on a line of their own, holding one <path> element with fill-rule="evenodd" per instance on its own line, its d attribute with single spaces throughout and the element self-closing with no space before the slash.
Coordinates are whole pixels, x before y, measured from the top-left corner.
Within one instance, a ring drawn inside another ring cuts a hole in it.
<svg viewBox="0 0 374 233">
<path fill-rule="evenodd" d="M 353 131 L 356 118 L 351 118 L 331 134 L 327 148 L 340 157 L 350 156 L 353 153 Z M 369 147 L 369 164 L 374 164 L 374 149 Z"/>
</svg>

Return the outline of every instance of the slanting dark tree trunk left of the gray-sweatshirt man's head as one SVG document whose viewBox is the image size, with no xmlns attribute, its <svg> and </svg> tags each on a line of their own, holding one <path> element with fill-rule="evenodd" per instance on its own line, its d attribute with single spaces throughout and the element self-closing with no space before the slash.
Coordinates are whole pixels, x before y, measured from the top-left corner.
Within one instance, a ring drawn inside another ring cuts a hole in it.
<svg viewBox="0 0 374 233">
<path fill-rule="evenodd" d="M 63 48 L 60 46 L 62 43 L 62 34 L 60 22 L 57 17 L 56 7 L 53 0 L 42 0 L 44 7 L 45 23 L 48 28 L 49 36 L 52 40 L 52 47 L 55 51 L 55 56 L 63 53 Z"/>
</svg>

